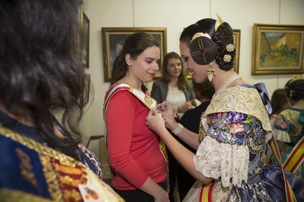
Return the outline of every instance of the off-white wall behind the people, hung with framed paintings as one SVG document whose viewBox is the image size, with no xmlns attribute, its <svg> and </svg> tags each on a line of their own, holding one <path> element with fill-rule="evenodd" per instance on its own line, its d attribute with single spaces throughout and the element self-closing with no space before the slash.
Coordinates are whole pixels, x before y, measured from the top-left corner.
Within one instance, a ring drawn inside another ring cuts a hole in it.
<svg viewBox="0 0 304 202">
<path fill-rule="evenodd" d="M 239 74 L 249 84 L 264 82 L 269 96 L 282 88 L 292 75 L 251 75 L 253 24 L 304 25 L 303 0 L 85 0 L 90 19 L 90 68 L 87 73 L 95 90 L 92 106 L 81 131 L 86 144 L 90 135 L 104 134 L 103 99 L 109 82 L 104 82 L 102 27 L 166 27 L 167 52 L 179 51 L 184 27 L 203 18 L 216 19 L 216 11 L 233 29 L 240 29 Z M 151 90 L 152 83 L 149 84 Z"/>
</svg>

